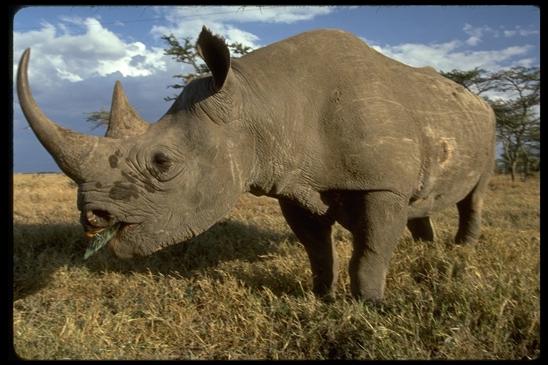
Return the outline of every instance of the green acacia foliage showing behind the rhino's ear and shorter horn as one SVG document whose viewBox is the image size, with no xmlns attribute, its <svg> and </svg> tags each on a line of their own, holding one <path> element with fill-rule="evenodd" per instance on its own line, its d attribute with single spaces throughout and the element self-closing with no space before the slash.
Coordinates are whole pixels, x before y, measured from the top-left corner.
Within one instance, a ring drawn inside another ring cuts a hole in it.
<svg viewBox="0 0 548 365">
<path fill-rule="evenodd" d="M 164 41 L 168 43 L 168 48 L 164 48 L 163 54 L 172 56 L 177 62 L 186 63 L 187 65 L 192 66 L 193 72 L 179 74 L 173 76 L 174 78 L 181 78 L 181 83 L 175 83 L 173 85 L 168 85 L 168 88 L 181 89 L 186 86 L 186 84 L 191 81 L 193 78 L 205 76 L 210 73 L 208 66 L 205 63 L 201 62 L 201 58 L 196 53 L 196 48 L 192 37 L 183 38 L 182 41 L 179 41 L 176 36 L 173 34 L 169 36 L 161 37 Z M 228 45 L 230 48 L 232 56 L 243 56 L 250 51 L 253 51 L 253 48 L 249 46 L 244 46 L 242 43 L 233 42 Z M 173 101 L 177 98 L 177 94 L 173 96 L 166 96 L 163 98 L 165 101 Z M 110 110 L 101 107 L 99 111 L 93 111 L 86 117 L 86 122 L 93 123 L 91 129 L 96 129 L 99 127 L 107 127 L 108 120 L 110 119 Z"/>
</svg>

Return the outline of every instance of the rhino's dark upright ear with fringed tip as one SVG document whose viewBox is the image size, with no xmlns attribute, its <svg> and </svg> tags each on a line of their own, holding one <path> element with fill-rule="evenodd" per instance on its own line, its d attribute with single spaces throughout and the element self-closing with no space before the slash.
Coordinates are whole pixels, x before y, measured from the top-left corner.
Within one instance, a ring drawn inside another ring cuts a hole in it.
<svg viewBox="0 0 548 365">
<path fill-rule="evenodd" d="M 230 49 L 228 49 L 225 38 L 218 34 L 214 35 L 203 26 L 198 41 L 196 41 L 196 51 L 213 75 L 215 91 L 219 91 L 225 85 L 230 71 Z"/>
</svg>

